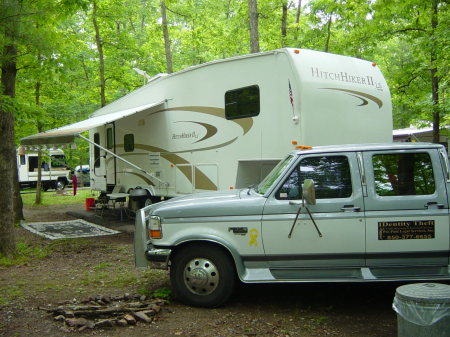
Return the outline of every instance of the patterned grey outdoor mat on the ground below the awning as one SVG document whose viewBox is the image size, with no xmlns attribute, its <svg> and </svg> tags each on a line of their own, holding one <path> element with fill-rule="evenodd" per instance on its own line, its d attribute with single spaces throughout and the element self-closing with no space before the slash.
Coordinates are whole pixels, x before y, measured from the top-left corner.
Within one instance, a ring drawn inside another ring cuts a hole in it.
<svg viewBox="0 0 450 337">
<path fill-rule="evenodd" d="M 22 222 L 21 225 L 30 232 L 50 240 L 85 238 L 120 233 L 81 219 L 55 222 Z"/>
</svg>

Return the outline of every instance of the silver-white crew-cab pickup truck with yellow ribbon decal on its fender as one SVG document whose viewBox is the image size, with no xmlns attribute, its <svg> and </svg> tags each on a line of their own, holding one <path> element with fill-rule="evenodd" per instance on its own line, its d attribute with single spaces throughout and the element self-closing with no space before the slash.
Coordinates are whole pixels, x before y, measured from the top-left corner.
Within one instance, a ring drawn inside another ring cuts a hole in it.
<svg viewBox="0 0 450 337">
<path fill-rule="evenodd" d="M 177 298 L 205 307 L 222 305 L 237 278 L 449 280 L 449 193 L 442 145 L 298 150 L 259 185 L 138 211 L 136 266 L 169 268 Z"/>
</svg>

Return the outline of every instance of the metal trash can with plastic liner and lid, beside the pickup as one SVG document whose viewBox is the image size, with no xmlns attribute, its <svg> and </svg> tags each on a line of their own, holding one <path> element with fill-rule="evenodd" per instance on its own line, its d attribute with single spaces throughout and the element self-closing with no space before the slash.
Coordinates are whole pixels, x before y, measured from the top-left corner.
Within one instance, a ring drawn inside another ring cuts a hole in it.
<svg viewBox="0 0 450 337">
<path fill-rule="evenodd" d="M 398 287 L 392 307 L 397 312 L 398 337 L 450 337 L 450 285 Z"/>
</svg>

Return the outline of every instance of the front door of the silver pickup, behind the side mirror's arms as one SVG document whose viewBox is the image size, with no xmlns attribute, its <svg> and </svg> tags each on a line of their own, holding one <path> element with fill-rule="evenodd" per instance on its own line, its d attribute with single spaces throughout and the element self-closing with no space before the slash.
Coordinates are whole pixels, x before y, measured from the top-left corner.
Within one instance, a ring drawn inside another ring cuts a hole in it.
<svg viewBox="0 0 450 337">
<path fill-rule="evenodd" d="M 354 277 L 365 262 L 364 203 L 356 154 L 302 156 L 287 176 L 269 196 L 262 217 L 272 273 L 287 279 L 314 278 L 317 272 L 322 278 L 324 273 L 330 278 Z M 305 179 L 315 182 L 317 202 L 307 206 L 317 228 L 305 209 L 293 226 Z"/>
</svg>

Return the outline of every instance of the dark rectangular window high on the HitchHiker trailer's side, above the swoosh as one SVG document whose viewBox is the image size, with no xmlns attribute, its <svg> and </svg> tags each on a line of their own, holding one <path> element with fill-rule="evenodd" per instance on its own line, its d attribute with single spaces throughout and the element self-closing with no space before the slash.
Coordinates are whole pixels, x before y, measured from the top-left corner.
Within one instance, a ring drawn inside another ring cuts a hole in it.
<svg viewBox="0 0 450 337">
<path fill-rule="evenodd" d="M 239 88 L 225 93 L 225 117 L 246 118 L 259 115 L 259 87 Z"/>
</svg>

